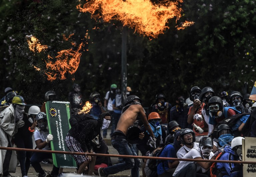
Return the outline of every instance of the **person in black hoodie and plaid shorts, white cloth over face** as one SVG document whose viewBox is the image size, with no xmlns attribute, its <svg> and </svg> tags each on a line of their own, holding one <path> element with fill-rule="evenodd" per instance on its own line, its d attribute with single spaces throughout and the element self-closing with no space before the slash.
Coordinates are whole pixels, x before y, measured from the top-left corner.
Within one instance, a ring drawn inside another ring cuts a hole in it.
<svg viewBox="0 0 256 177">
<path fill-rule="evenodd" d="M 94 119 L 89 114 L 72 114 L 69 120 L 69 130 L 65 142 L 70 152 L 94 153 L 92 140 L 100 135 L 101 129 L 107 128 L 110 124 L 110 114 L 100 114 L 99 119 Z M 103 127 L 104 126 L 104 127 Z M 89 165 L 88 175 L 92 175 L 96 156 L 72 155 L 78 164 L 78 174 L 82 174 Z"/>
</svg>

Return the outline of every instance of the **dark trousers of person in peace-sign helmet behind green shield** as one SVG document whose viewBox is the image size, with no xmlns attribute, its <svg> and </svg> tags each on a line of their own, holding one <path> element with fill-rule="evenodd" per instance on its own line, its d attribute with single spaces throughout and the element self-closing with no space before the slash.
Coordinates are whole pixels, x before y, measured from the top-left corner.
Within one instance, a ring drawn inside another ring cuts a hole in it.
<svg viewBox="0 0 256 177">
<path fill-rule="evenodd" d="M 35 171 L 40 174 L 44 174 L 44 170 L 42 169 L 40 162 L 44 159 L 51 159 L 51 153 L 43 153 L 43 152 L 34 152 L 30 161 L 32 167 L 34 167 Z M 51 175 L 55 176 L 59 174 L 59 168 L 53 165 Z"/>
</svg>

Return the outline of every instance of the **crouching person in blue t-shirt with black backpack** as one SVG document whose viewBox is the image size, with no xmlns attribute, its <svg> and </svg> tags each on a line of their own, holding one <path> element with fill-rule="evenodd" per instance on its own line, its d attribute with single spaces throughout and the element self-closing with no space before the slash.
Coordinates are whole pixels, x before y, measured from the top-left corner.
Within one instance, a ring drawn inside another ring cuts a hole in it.
<svg viewBox="0 0 256 177">
<path fill-rule="evenodd" d="M 167 146 L 165 146 L 159 157 L 177 158 L 177 151 L 181 147 L 180 133 L 182 130 L 183 129 L 180 129 L 175 132 L 174 142 L 172 144 L 168 144 Z M 160 160 L 160 163 L 157 165 L 158 177 L 172 176 L 178 164 L 179 161 L 177 160 Z"/>
</svg>

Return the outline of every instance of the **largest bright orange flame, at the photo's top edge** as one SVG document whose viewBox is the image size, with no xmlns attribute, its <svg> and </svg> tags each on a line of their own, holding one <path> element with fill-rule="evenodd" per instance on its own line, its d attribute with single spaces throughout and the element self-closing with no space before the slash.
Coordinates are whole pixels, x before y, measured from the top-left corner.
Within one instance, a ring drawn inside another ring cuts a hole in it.
<svg viewBox="0 0 256 177">
<path fill-rule="evenodd" d="M 77 5 L 80 12 L 89 12 L 92 18 L 103 18 L 105 22 L 120 20 L 124 26 L 135 28 L 135 31 L 143 36 L 156 38 L 163 34 L 166 23 L 174 17 L 181 17 L 182 9 L 179 3 L 164 1 L 153 4 L 150 0 L 91 0 L 83 5 Z M 99 13 L 97 13 L 99 12 Z"/>
</svg>

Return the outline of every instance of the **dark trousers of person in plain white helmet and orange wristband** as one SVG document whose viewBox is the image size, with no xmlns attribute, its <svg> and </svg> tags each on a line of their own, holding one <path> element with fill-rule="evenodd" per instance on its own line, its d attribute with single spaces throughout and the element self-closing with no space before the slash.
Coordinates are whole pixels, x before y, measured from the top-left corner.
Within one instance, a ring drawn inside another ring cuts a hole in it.
<svg viewBox="0 0 256 177">
<path fill-rule="evenodd" d="M 33 149 L 32 135 L 14 136 L 14 142 L 18 148 Z M 27 176 L 30 167 L 32 152 L 17 151 L 22 176 Z"/>
</svg>

